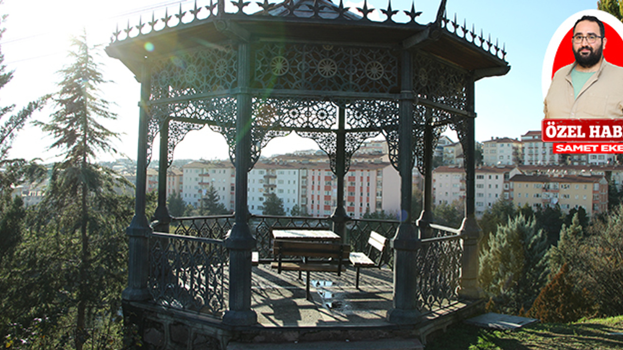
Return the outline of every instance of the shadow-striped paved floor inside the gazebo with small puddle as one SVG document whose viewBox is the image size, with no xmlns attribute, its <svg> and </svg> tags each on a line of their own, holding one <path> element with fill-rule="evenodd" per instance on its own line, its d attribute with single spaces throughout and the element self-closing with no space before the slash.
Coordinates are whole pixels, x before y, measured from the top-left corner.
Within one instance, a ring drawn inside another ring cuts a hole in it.
<svg viewBox="0 0 623 350">
<path fill-rule="evenodd" d="M 388 268 L 361 270 L 359 290 L 355 272 L 312 272 L 312 301 L 305 299 L 305 273 L 278 274 L 269 264 L 253 268 L 252 308 L 258 322 L 270 327 L 386 326 L 392 307 L 393 273 Z"/>
</svg>

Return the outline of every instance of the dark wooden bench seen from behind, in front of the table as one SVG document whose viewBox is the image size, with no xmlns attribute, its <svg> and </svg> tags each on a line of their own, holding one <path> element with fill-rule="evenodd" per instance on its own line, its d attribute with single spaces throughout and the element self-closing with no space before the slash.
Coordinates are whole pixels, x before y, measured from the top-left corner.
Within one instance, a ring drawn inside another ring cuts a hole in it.
<svg viewBox="0 0 623 350">
<path fill-rule="evenodd" d="M 276 268 L 277 273 L 286 271 L 305 271 L 305 298 L 310 296 L 310 272 L 335 272 L 340 276 L 348 264 L 350 246 L 340 243 L 305 242 L 298 240 L 274 240 L 273 254 L 277 261 L 270 267 Z M 285 257 L 299 257 L 301 261 L 283 261 Z"/>
</svg>

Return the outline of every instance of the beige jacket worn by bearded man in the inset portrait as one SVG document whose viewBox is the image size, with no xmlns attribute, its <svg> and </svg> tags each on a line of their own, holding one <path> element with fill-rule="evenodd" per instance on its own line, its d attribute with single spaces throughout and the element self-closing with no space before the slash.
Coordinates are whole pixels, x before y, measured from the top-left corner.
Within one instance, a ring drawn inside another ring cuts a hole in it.
<svg viewBox="0 0 623 350">
<path fill-rule="evenodd" d="M 566 65 L 554 74 L 545 97 L 545 118 L 623 118 L 623 68 L 602 60 L 574 100 L 573 67 Z"/>
</svg>

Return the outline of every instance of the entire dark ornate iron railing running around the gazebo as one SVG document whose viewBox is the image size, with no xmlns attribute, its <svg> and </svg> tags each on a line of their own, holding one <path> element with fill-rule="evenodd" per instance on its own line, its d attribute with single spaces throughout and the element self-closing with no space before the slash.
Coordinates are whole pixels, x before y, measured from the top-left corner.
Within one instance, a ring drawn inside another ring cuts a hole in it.
<svg viewBox="0 0 623 350">
<path fill-rule="evenodd" d="M 227 310 L 229 254 L 224 238 L 234 224 L 233 215 L 178 217 L 169 232 L 153 232 L 150 238 L 151 294 L 159 305 L 220 318 Z M 249 226 L 262 258 L 272 258 L 271 227 L 318 227 L 330 229 L 330 217 L 283 217 L 254 215 Z M 369 233 L 391 238 L 397 220 L 353 219 L 347 222 L 348 242 L 364 251 Z M 430 224 L 432 238 L 422 239 L 417 252 L 417 305 L 422 313 L 458 300 L 462 238 L 458 229 Z M 393 252 L 384 262 L 392 267 Z"/>
</svg>

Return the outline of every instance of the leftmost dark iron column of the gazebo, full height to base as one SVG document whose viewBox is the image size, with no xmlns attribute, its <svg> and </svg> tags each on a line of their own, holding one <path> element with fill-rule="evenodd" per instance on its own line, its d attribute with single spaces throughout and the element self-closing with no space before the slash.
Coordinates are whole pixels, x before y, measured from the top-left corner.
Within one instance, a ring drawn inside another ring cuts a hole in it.
<svg viewBox="0 0 623 350">
<path fill-rule="evenodd" d="M 145 189 L 147 185 L 147 102 L 151 95 L 151 72 L 146 59 L 141 70 L 141 104 L 138 121 L 138 154 L 136 156 L 136 201 L 134 217 L 126 229 L 128 235 L 128 287 L 121 293 L 125 301 L 151 298 L 147 288 L 149 275 L 149 236 L 151 227 L 145 215 Z"/>
</svg>

